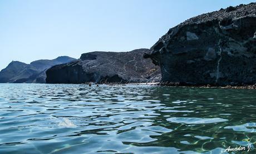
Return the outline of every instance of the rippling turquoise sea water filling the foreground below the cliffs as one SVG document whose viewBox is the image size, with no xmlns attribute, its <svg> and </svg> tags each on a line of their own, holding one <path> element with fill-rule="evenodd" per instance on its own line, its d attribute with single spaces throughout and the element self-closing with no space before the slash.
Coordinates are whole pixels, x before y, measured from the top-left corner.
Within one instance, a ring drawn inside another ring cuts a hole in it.
<svg viewBox="0 0 256 154">
<path fill-rule="evenodd" d="M 0 87 L 0 153 L 227 153 L 256 143 L 256 90 Z"/>
</svg>

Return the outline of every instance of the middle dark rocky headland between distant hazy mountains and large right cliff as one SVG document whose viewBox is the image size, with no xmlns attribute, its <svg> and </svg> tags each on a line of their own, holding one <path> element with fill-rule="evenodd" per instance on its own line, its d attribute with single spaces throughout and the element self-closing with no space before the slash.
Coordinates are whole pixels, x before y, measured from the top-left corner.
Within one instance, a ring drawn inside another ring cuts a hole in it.
<svg viewBox="0 0 256 154">
<path fill-rule="evenodd" d="M 148 49 L 83 53 L 77 61 L 47 70 L 47 83 L 156 82 L 160 68 L 143 58 Z"/>
</svg>

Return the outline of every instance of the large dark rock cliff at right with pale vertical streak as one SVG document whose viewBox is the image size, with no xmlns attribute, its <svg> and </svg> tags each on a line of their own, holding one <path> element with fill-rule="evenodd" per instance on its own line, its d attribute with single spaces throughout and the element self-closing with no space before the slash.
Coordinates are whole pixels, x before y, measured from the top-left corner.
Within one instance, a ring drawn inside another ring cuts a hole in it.
<svg viewBox="0 0 256 154">
<path fill-rule="evenodd" d="M 223 9 L 171 28 L 144 57 L 162 80 L 181 85 L 256 83 L 256 3 Z"/>
</svg>

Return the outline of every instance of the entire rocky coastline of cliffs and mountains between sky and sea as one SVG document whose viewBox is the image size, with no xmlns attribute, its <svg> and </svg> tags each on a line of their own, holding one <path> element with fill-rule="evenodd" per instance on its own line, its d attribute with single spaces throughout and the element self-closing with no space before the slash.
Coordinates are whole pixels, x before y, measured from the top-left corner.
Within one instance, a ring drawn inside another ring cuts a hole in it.
<svg viewBox="0 0 256 154">
<path fill-rule="evenodd" d="M 11 62 L 0 72 L 0 83 L 86 82 L 255 89 L 256 3 L 190 18 L 150 49 Z"/>
</svg>

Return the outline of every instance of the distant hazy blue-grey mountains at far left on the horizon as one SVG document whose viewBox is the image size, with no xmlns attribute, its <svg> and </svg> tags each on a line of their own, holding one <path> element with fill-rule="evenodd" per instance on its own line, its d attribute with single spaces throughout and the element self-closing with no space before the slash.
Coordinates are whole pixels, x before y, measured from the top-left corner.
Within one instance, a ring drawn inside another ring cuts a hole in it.
<svg viewBox="0 0 256 154">
<path fill-rule="evenodd" d="M 56 59 L 42 59 L 30 64 L 13 61 L 0 72 L 0 83 L 45 83 L 46 70 L 56 64 L 68 63 L 75 58 L 61 56 Z"/>
</svg>

